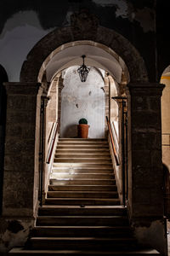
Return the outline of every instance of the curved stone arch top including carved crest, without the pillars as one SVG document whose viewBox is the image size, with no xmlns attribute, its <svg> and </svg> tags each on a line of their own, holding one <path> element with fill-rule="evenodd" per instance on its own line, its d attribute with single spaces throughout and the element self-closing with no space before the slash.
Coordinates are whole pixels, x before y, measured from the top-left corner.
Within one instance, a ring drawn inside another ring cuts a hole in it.
<svg viewBox="0 0 170 256">
<path fill-rule="evenodd" d="M 71 26 L 48 33 L 31 49 L 21 68 L 20 82 L 37 82 L 42 63 L 53 57 L 52 52 L 55 49 L 63 44 L 82 40 L 104 44 L 107 49 L 113 49 L 125 61 L 131 82 L 148 81 L 144 60 L 138 50 L 122 35 L 99 26 L 99 20 L 95 15 L 85 12 L 71 15 Z"/>
</svg>

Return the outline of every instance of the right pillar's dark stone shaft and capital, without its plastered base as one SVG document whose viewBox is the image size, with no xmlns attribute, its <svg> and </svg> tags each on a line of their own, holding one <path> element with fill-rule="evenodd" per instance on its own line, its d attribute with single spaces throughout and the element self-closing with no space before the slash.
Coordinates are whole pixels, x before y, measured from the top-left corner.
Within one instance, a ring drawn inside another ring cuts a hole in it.
<svg viewBox="0 0 170 256">
<path fill-rule="evenodd" d="M 129 84 L 131 116 L 128 140 L 129 186 L 132 187 L 132 218 L 163 215 L 163 172 L 161 162 L 162 84 Z M 144 90 L 143 90 L 144 88 Z M 156 104 L 150 103 L 155 100 Z M 151 99 L 151 100 L 150 100 Z M 142 104 L 144 102 L 144 104 Z M 159 108 L 157 107 L 159 105 Z M 130 127 L 131 126 L 131 127 Z M 159 207 L 158 207 L 159 206 Z"/>
</svg>

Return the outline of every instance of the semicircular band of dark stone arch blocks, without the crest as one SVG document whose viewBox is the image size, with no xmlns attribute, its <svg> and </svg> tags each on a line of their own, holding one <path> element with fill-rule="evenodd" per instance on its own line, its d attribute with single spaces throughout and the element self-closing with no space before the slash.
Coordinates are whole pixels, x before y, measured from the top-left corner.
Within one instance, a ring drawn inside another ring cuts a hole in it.
<svg viewBox="0 0 170 256">
<path fill-rule="evenodd" d="M 144 60 L 139 55 L 137 49 L 135 49 L 126 38 L 123 38 L 122 35 L 108 28 L 101 28 L 100 31 L 100 26 L 97 33 L 95 36 L 95 33 L 92 35 L 87 30 L 84 32 L 77 32 L 77 28 L 74 26 L 65 27 L 55 30 L 54 32 L 50 32 L 46 37 L 42 38 L 42 40 L 39 41 L 33 49 L 31 49 L 31 52 L 27 56 L 27 61 L 25 61 L 22 66 L 20 81 L 36 81 L 40 68 L 42 67 L 42 62 L 48 58 L 52 51 L 57 49 L 62 44 L 80 40 L 94 41 L 94 43 L 96 42 L 104 44 L 105 46 L 113 49 L 116 54 L 120 55 L 122 60 L 125 61 L 130 73 L 131 81 L 148 80 Z M 108 40 L 105 39 L 108 38 L 108 34 L 112 38 L 116 38 L 117 44 L 115 44 L 115 39 L 108 43 Z M 102 38 L 99 39 L 100 35 L 102 35 Z M 32 63 L 34 64 L 32 65 Z"/>
</svg>

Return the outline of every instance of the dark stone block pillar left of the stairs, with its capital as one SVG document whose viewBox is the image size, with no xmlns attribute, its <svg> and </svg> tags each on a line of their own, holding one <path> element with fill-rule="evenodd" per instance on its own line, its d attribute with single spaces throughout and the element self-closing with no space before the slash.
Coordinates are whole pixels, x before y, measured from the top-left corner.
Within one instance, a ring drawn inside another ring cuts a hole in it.
<svg viewBox="0 0 170 256">
<path fill-rule="evenodd" d="M 5 83 L 7 123 L 3 177 L 3 217 L 33 217 L 37 202 L 39 119 L 42 93 L 37 83 Z M 39 91 L 39 93 L 38 93 Z M 37 174 L 36 174 L 37 173 Z"/>
</svg>

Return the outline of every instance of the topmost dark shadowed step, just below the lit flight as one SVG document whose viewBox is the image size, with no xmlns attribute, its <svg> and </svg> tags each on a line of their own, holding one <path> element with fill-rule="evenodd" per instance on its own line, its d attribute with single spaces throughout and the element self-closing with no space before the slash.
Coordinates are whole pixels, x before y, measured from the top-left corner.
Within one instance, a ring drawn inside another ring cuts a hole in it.
<svg viewBox="0 0 170 256">
<path fill-rule="evenodd" d="M 111 206 L 42 206 L 38 209 L 39 216 L 62 216 L 62 215 L 83 215 L 83 216 L 102 216 L 102 215 L 115 215 L 125 216 L 127 209 L 124 207 L 111 207 Z"/>
</svg>

